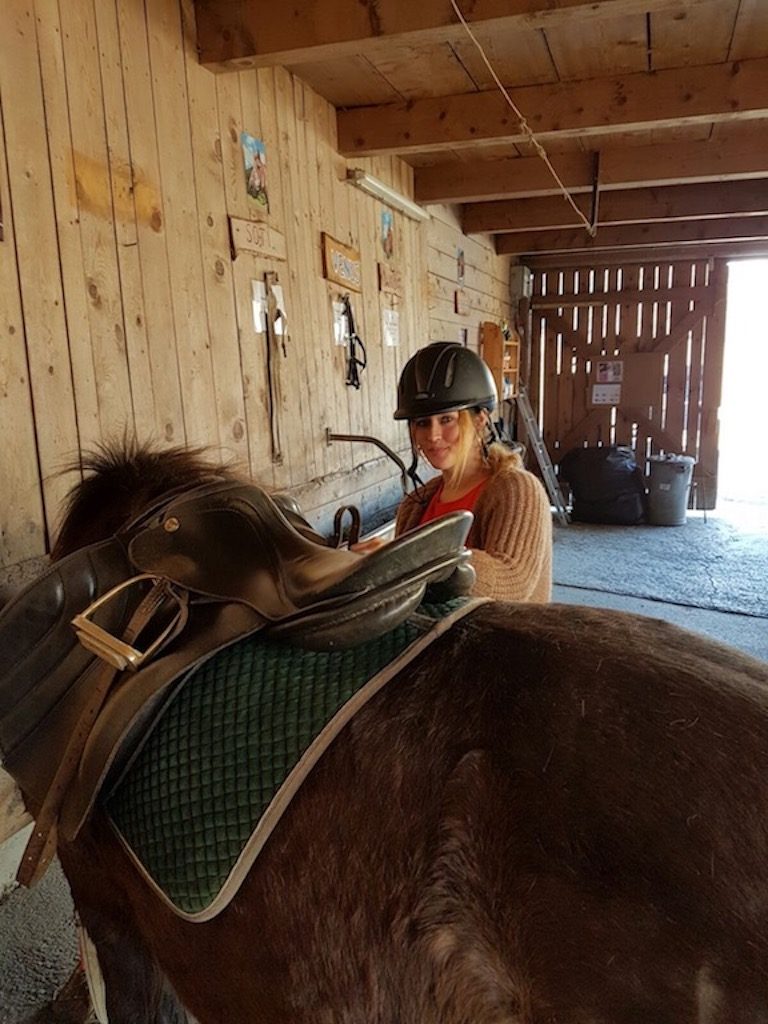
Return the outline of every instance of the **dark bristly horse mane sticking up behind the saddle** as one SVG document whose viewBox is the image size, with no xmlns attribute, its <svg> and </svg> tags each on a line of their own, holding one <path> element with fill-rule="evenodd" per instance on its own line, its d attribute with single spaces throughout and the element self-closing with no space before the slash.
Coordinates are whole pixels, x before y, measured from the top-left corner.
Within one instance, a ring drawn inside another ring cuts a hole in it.
<svg viewBox="0 0 768 1024">
<path fill-rule="evenodd" d="M 231 466 L 203 447 L 161 449 L 136 440 L 96 444 L 73 467 L 83 478 L 70 490 L 51 560 L 112 537 L 151 502 L 212 477 L 237 479 Z"/>
</svg>

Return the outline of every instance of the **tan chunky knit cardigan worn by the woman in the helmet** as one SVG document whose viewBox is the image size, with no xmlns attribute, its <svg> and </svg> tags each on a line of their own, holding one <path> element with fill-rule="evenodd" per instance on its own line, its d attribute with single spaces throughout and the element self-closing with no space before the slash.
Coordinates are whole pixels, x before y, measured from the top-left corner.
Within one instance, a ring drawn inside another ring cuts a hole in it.
<svg viewBox="0 0 768 1024">
<path fill-rule="evenodd" d="M 552 513 L 544 486 L 519 455 L 494 445 L 493 475 L 474 507 L 467 538 L 477 582 L 472 593 L 500 601 L 544 603 L 552 598 Z M 419 525 L 441 477 L 429 480 L 421 502 L 409 495 L 397 510 L 395 536 Z"/>
</svg>

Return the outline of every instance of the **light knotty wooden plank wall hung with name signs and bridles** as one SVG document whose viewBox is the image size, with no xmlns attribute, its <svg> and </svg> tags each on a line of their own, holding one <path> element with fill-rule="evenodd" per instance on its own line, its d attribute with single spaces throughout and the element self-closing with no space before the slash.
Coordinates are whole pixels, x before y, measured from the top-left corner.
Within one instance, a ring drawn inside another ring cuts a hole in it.
<svg viewBox="0 0 768 1024">
<path fill-rule="evenodd" d="M 377 201 L 346 185 L 333 108 L 285 70 L 214 76 L 196 59 L 191 0 L 3 0 L 0 5 L 0 567 L 42 555 L 79 453 L 135 434 L 212 445 L 315 518 L 396 487 L 377 450 L 325 440 L 374 433 L 402 451 L 391 413 L 408 356 L 430 338 L 477 343 L 507 316 L 509 260 L 465 239 L 452 211 L 393 212 L 397 347 L 382 343 Z M 245 188 L 242 131 L 266 144 L 268 225 L 285 261 L 230 252 L 228 217 L 263 219 Z M 413 195 L 395 158 L 355 162 Z M 352 293 L 369 367 L 344 384 L 321 232 L 361 253 Z M 467 312 L 455 311 L 456 249 Z M 289 336 L 271 458 L 266 340 L 251 285 L 284 289 Z M 396 496 L 395 496 L 396 497 Z"/>
</svg>

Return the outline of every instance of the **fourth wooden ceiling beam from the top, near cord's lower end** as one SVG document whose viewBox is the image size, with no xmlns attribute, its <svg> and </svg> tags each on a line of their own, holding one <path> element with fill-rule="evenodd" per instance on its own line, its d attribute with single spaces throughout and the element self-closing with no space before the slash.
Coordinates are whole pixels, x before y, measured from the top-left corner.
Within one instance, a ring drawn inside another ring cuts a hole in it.
<svg viewBox="0 0 768 1024">
<path fill-rule="evenodd" d="M 591 197 L 577 196 L 575 201 L 582 213 L 589 217 Z M 607 193 L 600 199 L 599 210 L 600 224 L 768 214 L 768 178 Z M 563 196 L 469 203 L 462 216 L 466 234 L 550 230 L 574 227 L 579 223 L 579 217 Z"/>
</svg>

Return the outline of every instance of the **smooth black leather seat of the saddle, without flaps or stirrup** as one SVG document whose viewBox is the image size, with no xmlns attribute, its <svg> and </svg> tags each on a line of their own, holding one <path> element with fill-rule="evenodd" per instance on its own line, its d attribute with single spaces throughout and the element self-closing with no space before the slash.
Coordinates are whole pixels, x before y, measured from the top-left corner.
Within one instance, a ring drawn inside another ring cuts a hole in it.
<svg viewBox="0 0 768 1024">
<path fill-rule="evenodd" d="M 414 597 L 418 604 L 427 583 L 457 568 L 459 592 L 474 582 L 464 548 L 470 513 L 435 520 L 369 555 L 329 547 L 298 519 L 253 484 L 206 484 L 128 527 L 128 557 L 139 571 L 200 598 L 248 605 L 272 634 L 314 649 L 359 643 L 361 629 L 366 636 L 384 632 L 387 604 Z"/>
</svg>

